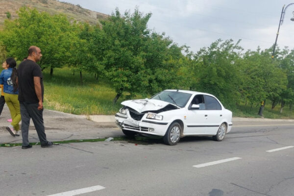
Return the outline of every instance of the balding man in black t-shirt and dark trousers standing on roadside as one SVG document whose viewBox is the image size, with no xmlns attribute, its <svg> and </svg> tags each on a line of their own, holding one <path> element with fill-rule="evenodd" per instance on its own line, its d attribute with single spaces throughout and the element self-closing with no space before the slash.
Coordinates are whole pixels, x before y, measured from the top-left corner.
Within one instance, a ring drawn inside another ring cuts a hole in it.
<svg viewBox="0 0 294 196">
<path fill-rule="evenodd" d="M 18 68 L 19 101 L 22 115 L 23 149 L 32 147 L 28 142 L 28 127 L 30 119 L 35 125 L 41 147 L 51 147 L 45 134 L 43 121 L 43 74 L 40 66 L 36 63 L 42 57 L 41 49 L 31 46 L 28 49 L 28 57 L 21 62 Z"/>
</svg>

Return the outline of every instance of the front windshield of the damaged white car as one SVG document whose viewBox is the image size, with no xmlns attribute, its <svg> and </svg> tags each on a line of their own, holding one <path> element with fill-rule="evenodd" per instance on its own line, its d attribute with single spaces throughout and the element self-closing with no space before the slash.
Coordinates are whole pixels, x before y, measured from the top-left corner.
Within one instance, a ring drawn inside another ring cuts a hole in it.
<svg viewBox="0 0 294 196">
<path fill-rule="evenodd" d="M 154 95 L 150 99 L 158 99 L 158 100 L 170 102 L 179 107 L 184 107 L 187 104 L 190 97 L 191 97 L 191 94 L 189 93 L 181 93 L 177 91 L 162 91 Z"/>
</svg>

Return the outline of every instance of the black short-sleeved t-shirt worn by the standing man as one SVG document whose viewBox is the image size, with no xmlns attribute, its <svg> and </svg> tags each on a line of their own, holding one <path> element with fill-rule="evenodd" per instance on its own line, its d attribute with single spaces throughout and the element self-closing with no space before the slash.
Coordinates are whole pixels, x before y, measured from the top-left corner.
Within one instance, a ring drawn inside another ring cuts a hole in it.
<svg viewBox="0 0 294 196">
<path fill-rule="evenodd" d="M 32 60 L 21 62 L 17 70 L 19 84 L 19 101 L 26 103 L 38 103 L 36 95 L 34 77 L 40 77 L 42 99 L 44 100 L 43 74 L 40 66 Z"/>
</svg>

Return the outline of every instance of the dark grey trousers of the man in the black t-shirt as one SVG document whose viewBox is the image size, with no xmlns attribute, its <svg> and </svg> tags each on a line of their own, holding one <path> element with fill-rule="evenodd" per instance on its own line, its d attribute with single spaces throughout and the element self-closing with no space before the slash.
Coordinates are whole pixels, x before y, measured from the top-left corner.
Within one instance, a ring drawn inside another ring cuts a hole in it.
<svg viewBox="0 0 294 196">
<path fill-rule="evenodd" d="M 23 146 L 28 146 L 28 127 L 30 119 L 33 120 L 41 145 L 47 145 L 43 121 L 43 109 L 38 110 L 39 103 L 20 102 L 22 115 Z"/>
</svg>

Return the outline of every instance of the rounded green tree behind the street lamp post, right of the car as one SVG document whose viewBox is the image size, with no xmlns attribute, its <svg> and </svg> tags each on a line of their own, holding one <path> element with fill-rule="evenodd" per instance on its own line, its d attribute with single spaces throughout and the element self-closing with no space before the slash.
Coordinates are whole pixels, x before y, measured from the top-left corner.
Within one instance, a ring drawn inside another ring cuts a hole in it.
<svg viewBox="0 0 294 196">
<path fill-rule="evenodd" d="M 244 97 L 250 104 L 258 104 L 266 100 L 274 101 L 280 97 L 286 89 L 288 80 L 286 73 L 280 69 L 277 61 L 270 57 L 270 49 L 248 50 L 243 57 L 243 66 L 240 67 L 245 73 L 243 85 Z M 260 115 L 264 108 L 260 110 Z"/>
</svg>

